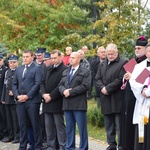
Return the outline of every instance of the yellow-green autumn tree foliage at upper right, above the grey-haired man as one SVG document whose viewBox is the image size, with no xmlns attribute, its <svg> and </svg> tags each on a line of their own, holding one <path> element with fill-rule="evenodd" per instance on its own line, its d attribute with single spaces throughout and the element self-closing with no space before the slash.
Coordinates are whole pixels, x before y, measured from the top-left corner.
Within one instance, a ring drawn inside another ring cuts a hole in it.
<svg viewBox="0 0 150 150">
<path fill-rule="evenodd" d="M 142 33 L 144 9 L 137 3 L 130 3 L 127 0 L 105 0 L 104 3 L 97 4 L 99 7 L 106 7 L 102 19 L 93 25 L 99 35 L 93 40 L 98 45 L 104 46 L 115 43 L 123 55 L 133 53 L 134 40 Z"/>
</svg>

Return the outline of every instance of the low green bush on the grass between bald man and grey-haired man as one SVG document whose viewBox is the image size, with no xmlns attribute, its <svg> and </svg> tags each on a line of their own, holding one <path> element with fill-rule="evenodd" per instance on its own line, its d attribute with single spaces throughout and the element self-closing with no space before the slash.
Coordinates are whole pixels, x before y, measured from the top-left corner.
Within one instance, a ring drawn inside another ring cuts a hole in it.
<svg viewBox="0 0 150 150">
<path fill-rule="evenodd" d="M 93 126 L 104 127 L 104 117 L 97 107 L 91 108 L 87 112 L 87 120 Z"/>
</svg>

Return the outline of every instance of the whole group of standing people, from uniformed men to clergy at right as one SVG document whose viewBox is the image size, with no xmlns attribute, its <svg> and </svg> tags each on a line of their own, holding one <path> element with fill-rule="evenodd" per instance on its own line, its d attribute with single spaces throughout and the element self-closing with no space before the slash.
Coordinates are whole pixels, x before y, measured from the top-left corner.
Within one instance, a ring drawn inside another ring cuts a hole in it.
<svg viewBox="0 0 150 150">
<path fill-rule="evenodd" d="M 143 69 L 150 70 L 147 39 L 136 40 L 138 64 L 133 73 L 124 69 L 127 60 L 121 58 L 117 45 L 99 47 L 92 61 L 84 57 L 87 50 L 87 46 L 76 52 L 66 47 L 65 56 L 46 48 L 37 48 L 35 54 L 25 50 L 22 64 L 12 54 L 8 67 L 0 55 L 2 142 L 19 143 L 19 150 L 75 150 L 77 124 L 79 149 L 88 150 L 86 111 L 93 85 L 104 115 L 106 150 L 150 149 L 150 80 L 149 76 L 144 84 L 136 80 Z"/>
</svg>

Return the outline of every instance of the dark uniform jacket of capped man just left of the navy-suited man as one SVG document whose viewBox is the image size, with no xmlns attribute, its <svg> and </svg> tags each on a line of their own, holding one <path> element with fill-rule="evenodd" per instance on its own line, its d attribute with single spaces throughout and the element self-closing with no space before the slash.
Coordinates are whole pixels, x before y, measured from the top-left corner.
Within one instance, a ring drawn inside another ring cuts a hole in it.
<svg viewBox="0 0 150 150">
<path fill-rule="evenodd" d="M 14 96 L 9 95 L 9 91 L 12 91 L 12 81 L 14 77 L 15 70 L 8 69 L 5 73 L 5 84 L 2 93 L 2 101 L 5 104 L 15 104 Z"/>
</svg>

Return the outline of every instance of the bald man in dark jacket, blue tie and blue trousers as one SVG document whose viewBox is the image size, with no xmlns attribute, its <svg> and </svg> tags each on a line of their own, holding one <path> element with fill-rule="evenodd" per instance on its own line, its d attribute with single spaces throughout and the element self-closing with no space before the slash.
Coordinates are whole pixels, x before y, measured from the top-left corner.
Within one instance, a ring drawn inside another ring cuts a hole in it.
<svg viewBox="0 0 150 150">
<path fill-rule="evenodd" d="M 87 98 L 90 88 L 90 70 L 80 66 L 80 54 L 70 55 L 71 67 L 66 69 L 61 78 L 59 91 L 63 95 L 63 110 L 66 118 L 66 150 L 75 149 L 76 123 L 80 134 L 80 150 L 88 150 L 87 133 Z"/>
</svg>

